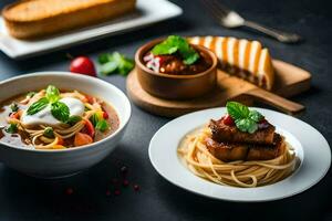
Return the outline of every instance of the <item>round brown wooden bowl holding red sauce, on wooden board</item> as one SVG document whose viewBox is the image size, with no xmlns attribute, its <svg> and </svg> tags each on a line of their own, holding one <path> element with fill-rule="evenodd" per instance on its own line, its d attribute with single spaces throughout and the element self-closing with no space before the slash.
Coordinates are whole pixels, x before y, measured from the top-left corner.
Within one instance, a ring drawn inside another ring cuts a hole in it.
<svg viewBox="0 0 332 221">
<path fill-rule="evenodd" d="M 217 56 L 208 49 L 199 45 L 191 46 L 197 51 L 208 54 L 211 60 L 211 66 L 197 74 L 173 75 L 156 73 L 145 66 L 144 55 L 152 50 L 154 45 L 164 39 L 151 41 L 141 46 L 135 54 L 136 72 L 138 82 L 147 93 L 167 99 L 187 99 L 195 98 L 212 91 L 217 85 Z"/>
</svg>

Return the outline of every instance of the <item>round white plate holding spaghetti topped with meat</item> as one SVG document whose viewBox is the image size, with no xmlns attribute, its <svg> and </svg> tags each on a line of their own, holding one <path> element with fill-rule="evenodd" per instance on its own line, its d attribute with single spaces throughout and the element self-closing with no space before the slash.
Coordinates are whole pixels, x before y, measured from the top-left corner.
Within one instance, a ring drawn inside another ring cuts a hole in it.
<svg viewBox="0 0 332 221">
<path fill-rule="evenodd" d="M 178 117 L 163 126 L 149 144 L 149 159 L 154 168 L 172 183 L 209 198 L 230 201 L 269 201 L 302 192 L 328 172 L 331 150 L 325 138 L 312 126 L 278 112 L 256 108 L 276 125 L 277 131 L 295 149 L 301 160 L 297 171 L 277 183 L 258 188 L 225 187 L 207 181 L 191 173 L 181 165 L 177 147 L 183 137 L 203 126 L 209 119 L 220 118 L 226 108 L 212 108 Z"/>
</svg>

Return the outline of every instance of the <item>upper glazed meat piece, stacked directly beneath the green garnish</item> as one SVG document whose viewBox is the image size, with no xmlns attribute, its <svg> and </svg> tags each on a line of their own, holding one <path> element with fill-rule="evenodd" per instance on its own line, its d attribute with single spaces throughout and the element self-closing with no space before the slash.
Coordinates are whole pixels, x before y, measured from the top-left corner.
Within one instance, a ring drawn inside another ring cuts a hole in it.
<svg viewBox="0 0 332 221">
<path fill-rule="evenodd" d="M 222 119 L 210 120 L 209 128 L 212 133 L 212 139 L 218 143 L 246 143 L 258 145 L 272 145 L 276 127 L 266 123 L 267 127 L 258 129 L 253 134 L 240 131 L 236 126 L 225 125 Z"/>
</svg>

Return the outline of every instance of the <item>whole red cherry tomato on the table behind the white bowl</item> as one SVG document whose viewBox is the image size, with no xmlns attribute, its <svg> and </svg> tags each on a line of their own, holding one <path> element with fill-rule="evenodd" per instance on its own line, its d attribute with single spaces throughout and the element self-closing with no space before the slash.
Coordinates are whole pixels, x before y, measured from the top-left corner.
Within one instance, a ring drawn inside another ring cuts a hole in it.
<svg viewBox="0 0 332 221">
<path fill-rule="evenodd" d="M 87 56 L 77 56 L 71 62 L 70 71 L 89 76 L 96 76 L 93 62 Z"/>
</svg>

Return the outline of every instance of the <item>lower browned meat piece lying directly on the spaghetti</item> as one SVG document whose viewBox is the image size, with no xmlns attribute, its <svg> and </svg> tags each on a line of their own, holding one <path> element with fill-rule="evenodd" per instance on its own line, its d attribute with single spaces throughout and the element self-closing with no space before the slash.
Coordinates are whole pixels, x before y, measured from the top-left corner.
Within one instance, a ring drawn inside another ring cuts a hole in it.
<svg viewBox="0 0 332 221">
<path fill-rule="evenodd" d="M 206 146 L 216 158 L 222 161 L 269 160 L 282 155 L 286 150 L 283 138 L 276 134 L 272 145 L 217 143 L 206 138 Z"/>
</svg>

